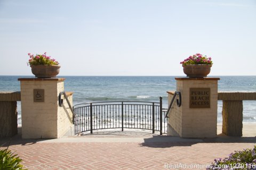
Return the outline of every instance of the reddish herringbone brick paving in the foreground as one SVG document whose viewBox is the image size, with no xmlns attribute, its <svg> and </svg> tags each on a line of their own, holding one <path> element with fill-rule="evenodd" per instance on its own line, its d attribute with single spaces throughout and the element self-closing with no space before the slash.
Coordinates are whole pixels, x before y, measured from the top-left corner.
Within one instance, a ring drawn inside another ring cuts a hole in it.
<svg viewBox="0 0 256 170">
<path fill-rule="evenodd" d="M 87 142 L 89 138 L 81 138 L 84 142 L 18 139 L 11 142 L 9 149 L 16 151 L 28 169 L 167 169 L 167 164 L 210 164 L 214 158 L 252 148 L 256 143 L 255 138 L 232 138 L 233 141 L 218 138 L 201 142 L 157 142 L 150 138 L 145 142 Z M 3 142 L 0 140 L 0 145 Z"/>
</svg>

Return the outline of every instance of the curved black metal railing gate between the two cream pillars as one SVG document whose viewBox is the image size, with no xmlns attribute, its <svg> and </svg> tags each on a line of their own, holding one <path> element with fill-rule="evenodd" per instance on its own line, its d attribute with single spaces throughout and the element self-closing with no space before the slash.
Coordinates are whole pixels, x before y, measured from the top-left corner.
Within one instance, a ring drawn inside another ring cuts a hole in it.
<svg viewBox="0 0 256 170">
<path fill-rule="evenodd" d="M 166 133 L 167 109 L 148 101 L 107 101 L 73 106 L 75 134 L 101 129 L 145 129 Z"/>
</svg>

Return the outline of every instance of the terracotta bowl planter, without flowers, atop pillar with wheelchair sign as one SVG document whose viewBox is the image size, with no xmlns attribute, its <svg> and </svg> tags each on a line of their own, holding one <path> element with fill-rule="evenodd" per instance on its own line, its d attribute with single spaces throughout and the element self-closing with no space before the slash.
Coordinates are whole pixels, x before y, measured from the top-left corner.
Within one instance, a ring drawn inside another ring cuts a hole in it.
<svg viewBox="0 0 256 170">
<path fill-rule="evenodd" d="M 60 72 L 60 65 L 30 65 L 37 78 L 55 78 Z"/>
</svg>

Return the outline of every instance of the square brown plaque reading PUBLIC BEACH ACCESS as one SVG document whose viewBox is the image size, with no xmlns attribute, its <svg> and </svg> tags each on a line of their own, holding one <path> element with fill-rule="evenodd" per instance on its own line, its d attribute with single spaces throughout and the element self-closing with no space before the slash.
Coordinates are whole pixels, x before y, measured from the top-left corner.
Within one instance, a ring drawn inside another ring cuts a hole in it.
<svg viewBox="0 0 256 170">
<path fill-rule="evenodd" d="M 210 88 L 190 88 L 189 108 L 211 108 Z"/>
</svg>

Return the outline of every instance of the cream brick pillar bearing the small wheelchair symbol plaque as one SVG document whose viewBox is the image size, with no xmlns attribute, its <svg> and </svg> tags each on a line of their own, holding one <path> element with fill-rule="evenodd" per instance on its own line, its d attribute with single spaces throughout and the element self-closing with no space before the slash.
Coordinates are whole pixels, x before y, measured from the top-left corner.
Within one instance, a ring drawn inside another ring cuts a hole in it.
<svg viewBox="0 0 256 170">
<path fill-rule="evenodd" d="M 60 107 L 58 103 L 65 79 L 18 80 L 21 87 L 22 138 L 60 138 L 67 133 L 72 126 L 72 114 L 70 109 L 66 109 L 68 107 Z"/>
</svg>

